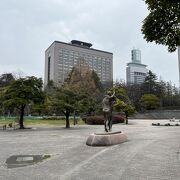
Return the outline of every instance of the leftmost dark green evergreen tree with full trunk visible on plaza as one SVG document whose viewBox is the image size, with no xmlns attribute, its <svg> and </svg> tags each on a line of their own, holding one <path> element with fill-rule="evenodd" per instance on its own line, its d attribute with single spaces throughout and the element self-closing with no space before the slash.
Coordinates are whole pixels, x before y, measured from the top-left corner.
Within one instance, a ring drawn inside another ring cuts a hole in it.
<svg viewBox="0 0 180 180">
<path fill-rule="evenodd" d="M 14 80 L 5 89 L 3 96 L 4 107 L 16 108 L 19 111 L 20 129 L 23 129 L 25 108 L 29 104 L 41 104 L 44 102 L 42 79 L 31 76 Z"/>
</svg>

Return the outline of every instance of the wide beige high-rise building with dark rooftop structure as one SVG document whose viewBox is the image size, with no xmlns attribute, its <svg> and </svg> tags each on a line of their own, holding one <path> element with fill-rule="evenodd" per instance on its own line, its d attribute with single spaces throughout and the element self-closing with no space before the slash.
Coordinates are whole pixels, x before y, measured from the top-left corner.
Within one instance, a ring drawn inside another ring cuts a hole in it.
<svg viewBox="0 0 180 180">
<path fill-rule="evenodd" d="M 54 41 L 45 51 L 44 86 L 50 80 L 56 86 L 61 86 L 75 66 L 94 70 L 102 84 L 112 85 L 113 54 L 91 46 L 90 43 L 77 40 L 71 43 Z"/>
</svg>

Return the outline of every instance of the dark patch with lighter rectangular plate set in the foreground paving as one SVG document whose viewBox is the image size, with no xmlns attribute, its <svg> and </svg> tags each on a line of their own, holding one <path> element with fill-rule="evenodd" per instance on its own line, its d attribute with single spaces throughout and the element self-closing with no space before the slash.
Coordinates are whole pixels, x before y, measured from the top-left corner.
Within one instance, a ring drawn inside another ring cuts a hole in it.
<svg viewBox="0 0 180 180">
<path fill-rule="evenodd" d="M 23 167 L 42 162 L 47 158 L 50 158 L 50 155 L 14 155 L 6 160 L 6 165 L 8 168 Z"/>
</svg>

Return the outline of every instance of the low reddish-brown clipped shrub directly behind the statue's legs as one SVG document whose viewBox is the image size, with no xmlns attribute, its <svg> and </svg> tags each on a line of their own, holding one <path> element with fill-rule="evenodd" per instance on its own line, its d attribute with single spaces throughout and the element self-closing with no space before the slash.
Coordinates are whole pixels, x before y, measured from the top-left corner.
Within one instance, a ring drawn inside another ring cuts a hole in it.
<svg viewBox="0 0 180 180">
<path fill-rule="evenodd" d="M 104 117 L 103 116 L 88 116 L 83 117 L 82 119 L 86 124 L 89 125 L 104 125 Z M 113 124 L 124 123 L 125 117 L 123 115 L 114 115 L 113 116 Z"/>
</svg>

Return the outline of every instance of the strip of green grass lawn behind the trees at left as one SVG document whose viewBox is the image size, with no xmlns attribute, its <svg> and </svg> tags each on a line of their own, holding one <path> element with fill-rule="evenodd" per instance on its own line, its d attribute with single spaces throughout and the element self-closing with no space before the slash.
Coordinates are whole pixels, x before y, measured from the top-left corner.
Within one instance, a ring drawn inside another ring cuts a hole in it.
<svg viewBox="0 0 180 180">
<path fill-rule="evenodd" d="M 9 124 L 9 123 L 15 123 L 12 119 L 6 119 L 6 120 L 0 120 L 0 125 L 3 124 Z M 41 120 L 41 119 L 25 119 L 24 125 L 64 125 L 65 126 L 66 121 L 65 119 L 62 120 Z M 78 125 L 85 124 L 84 121 L 78 120 Z M 73 125 L 73 120 L 70 120 L 70 125 Z"/>
</svg>

